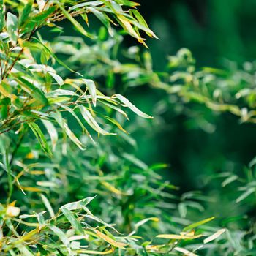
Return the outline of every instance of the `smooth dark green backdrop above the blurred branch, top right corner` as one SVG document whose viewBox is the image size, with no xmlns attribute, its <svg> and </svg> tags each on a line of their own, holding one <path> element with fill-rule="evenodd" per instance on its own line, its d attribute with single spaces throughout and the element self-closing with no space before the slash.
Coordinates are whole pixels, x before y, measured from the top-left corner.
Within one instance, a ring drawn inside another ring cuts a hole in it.
<svg viewBox="0 0 256 256">
<path fill-rule="evenodd" d="M 255 8 L 254 0 L 162 0 L 157 6 L 141 1 L 140 11 L 160 38 L 150 44 L 158 67 L 181 47 L 198 64 L 218 66 L 224 59 L 255 59 Z"/>
</svg>

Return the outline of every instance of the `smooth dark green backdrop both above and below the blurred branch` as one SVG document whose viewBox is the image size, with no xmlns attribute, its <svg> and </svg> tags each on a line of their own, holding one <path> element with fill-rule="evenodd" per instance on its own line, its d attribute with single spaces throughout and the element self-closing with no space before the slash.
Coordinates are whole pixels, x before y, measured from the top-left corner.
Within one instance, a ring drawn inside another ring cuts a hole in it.
<svg viewBox="0 0 256 256">
<path fill-rule="evenodd" d="M 162 0 L 157 5 L 152 0 L 141 1 L 140 12 L 159 37 L 147 41 L 154 69 L 165 69 L 166 57 L 180 48 L 192 51 L 198 68 L 240 67 L 244 61 L 253 61 L 255 9 L 254 0 Z M 134 45 L 134 40 L 129 44 Z M 149 113 L 154 113 L 154 102 L 164 97 L 146 87 L 129 93 Z M 140 97 L 142 93 L 144 97 Z M 255 125 L 239 124 L 238 118 L 228 113 L 212 116 L 212 111 L 200 105 L 189 105 L 194 115 L 176 108 L 170 104 L 163 113 L 165 127 L 156 125 L 135 135 L 138 157 L 169 163 L 168 176 L 181 187 L 181 193 L 200 189 L 202 177 L 218 171 L 242 173 L 255 157 Z M 202 122 L 207 122 L 209 129 L 202 129 Z"/>
</svg>

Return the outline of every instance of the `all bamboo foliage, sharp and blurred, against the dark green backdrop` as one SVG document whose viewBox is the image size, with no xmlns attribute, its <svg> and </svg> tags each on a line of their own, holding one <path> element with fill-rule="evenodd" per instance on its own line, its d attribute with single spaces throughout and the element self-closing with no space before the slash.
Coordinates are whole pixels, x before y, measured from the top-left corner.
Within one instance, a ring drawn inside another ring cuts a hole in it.
<svg viewBox="0 0 256 256">
<path fill-rule="evenodd" d="M 202 109 L 255 122 L 254 64 L 197 69 L 182 48 L 155 72 L 146 48 L 119 48 L 123 34 L 144 46 L 157 37 L 133 1 L 0 4 L 2 255 L 255 254 L 255 204 L 242 205 L 255 194 L 254 160 L 245 176 L 206 175 L 201 192 L 180 192 L 165 181 L 169 165 L 139 159 L 129 135 L 164 127 L 173 105 L 206 132 Z M 97 33 L 85 29 L 90 15 L 104 26 Z M 61 20 L 79 37 L 61 35 Z M 45 28 L 56 38 L 44 39 Z M 148 102 L 154 119 L 123 96 L 143 86 L 161 94 Z M 214 220 L 212 181 L 235 217 Z"/>
</svg>

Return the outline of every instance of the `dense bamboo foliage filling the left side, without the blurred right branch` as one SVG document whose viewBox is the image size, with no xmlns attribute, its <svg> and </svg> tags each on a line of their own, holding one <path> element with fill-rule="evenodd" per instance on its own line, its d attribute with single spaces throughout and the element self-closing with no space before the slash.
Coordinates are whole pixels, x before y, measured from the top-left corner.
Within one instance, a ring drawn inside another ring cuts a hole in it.
<svg viewBox="0 0 256 256">
<path fill-rule="evenodd" d="M 176 187 L 159 176 L 165 165 L 148 167 L 129 150 L 120 150 L 114 139 L 99 138 L 94 145 L 94 132 L 116 135 L 117 127 L 123 140 L 135 146 L 122 127 L 128 119 L 122 107 L 141 118 L 151 116 L 121 94 L 102 94 L 89 75 L 59 59 L 39 34 L 43 26 L 58 30 L 56 23 L 66 18 L 97 45 L 100 38 L 76 19 L 88 23 L 92 12 L 110 35 L 115 19 L 146 45 L 140 30 L 156 36 L 136 6 L 126 0 L 1 1 L 1 254 L 187 253 L 187 241 L 200 239 L 201 248 L 225 233 L 218 227 L 195 233 L 213 218 L 193 225 L 181 220 L 176 227 L 178 220 L 165 213 L 165 208 L 176 208 L 165 200 L 178 200 L 170 193 Z M 70 76 L 56 71 L 56 63 Z M 157 223 L 151 232 L 148 222 Z M 183 231 L 182 225 L 187 226 Z"/>
</svg>

